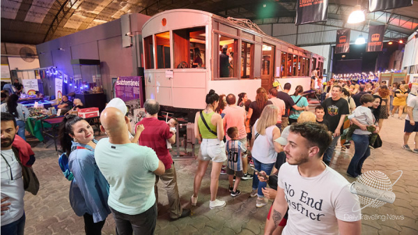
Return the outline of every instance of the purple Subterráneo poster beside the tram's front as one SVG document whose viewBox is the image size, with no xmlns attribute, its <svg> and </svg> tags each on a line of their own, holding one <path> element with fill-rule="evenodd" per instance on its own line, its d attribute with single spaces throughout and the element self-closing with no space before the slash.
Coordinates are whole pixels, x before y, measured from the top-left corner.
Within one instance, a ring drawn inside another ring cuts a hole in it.
<svg viewBox="0 0 418 235">
<path fill-rule="evenodd" d="M 145 116 L 145 110 L 141 108 L 144 107 L 142 77 L 118 77 L 115 82 L 115 93 L 117 98 L 125 101 L 128 110 L 127 116 L 134 127 Z"/>
</svg>

